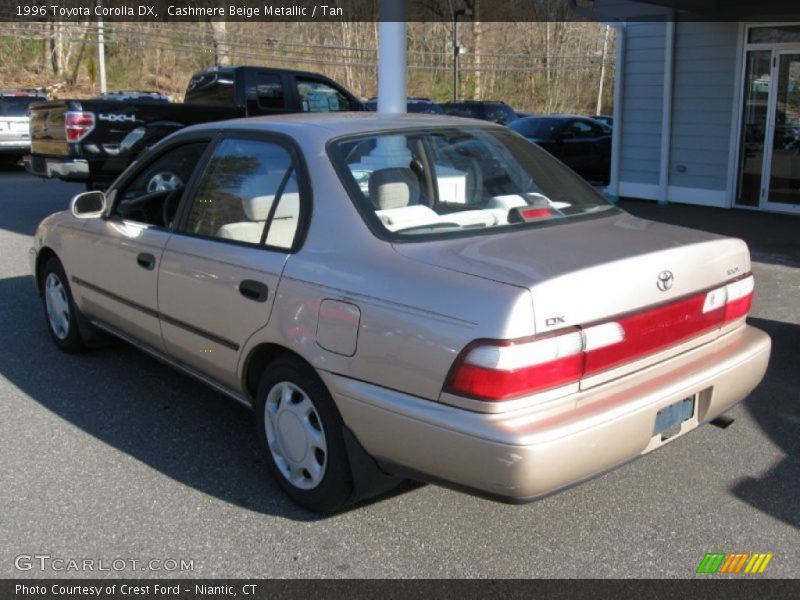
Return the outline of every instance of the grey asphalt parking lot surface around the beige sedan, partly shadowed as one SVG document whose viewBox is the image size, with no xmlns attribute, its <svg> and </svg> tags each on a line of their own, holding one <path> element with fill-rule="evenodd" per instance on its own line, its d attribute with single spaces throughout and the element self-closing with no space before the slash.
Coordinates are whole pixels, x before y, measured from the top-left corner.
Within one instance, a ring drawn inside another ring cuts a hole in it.
<svg viewBox="0 0 800 600">
<path fill-rule="evenodd" d="M 28 248 L 79 191 L 0 169 L 0 577 L 683 578 L 707 552 L 800 573 L 800 218 L 623 203 L 751 244 L 773 357 L 727 429 L 532 504 L 408 484 L 319 517 L 269 479 L 246 409 L 124 344 L 52 344 Z"/>
</svg>

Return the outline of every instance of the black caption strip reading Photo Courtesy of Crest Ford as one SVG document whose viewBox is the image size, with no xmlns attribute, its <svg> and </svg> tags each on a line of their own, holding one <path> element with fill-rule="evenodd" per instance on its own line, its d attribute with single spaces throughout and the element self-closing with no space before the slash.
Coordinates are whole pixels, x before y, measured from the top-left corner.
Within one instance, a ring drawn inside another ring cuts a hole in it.
<svg viewBox="0 0 800 600">
<path fill-rule="evenodd" d="M 698 559 L 699 560 L 699 559 Z M 531 567 L 535 573 L 535 565 Z M 113 572 L 105 577 L 113 576 Z M 123 593 L 125 586 L 140 587 L 139 594 Z M 160 586 L 156 589 L 156 585 Z M 82 586 L 100 588 L 100 593 L 79 592 Z M 170 588 L 164 590 L 164 588 Z M 38 589 L 37 589 L 38 588 Z M 37 590 L 39 593 L 33 592 Z M 75 591 L 73 591 L 75 590 Z M 212 592 L 213 590 L 213 592 Z M 72 592 L 72 593 L 70 593 Z M 76 593 L 77 592 L 77 593 Z M 209 593 L 211 592 L 211 593 Z M 214 593 L 217 592 L 217 593 Z M 226 593 L 227 592 L 227 593 Z M 71 600 L 99 598 L 101 600 L 130 600 L 142 598 L 176 598 L 206 600 L 208 598 L 238 598 L 248 600 L 307 600 L 308 598 L 375 600 L 407 600 L 426 598 L 461 600 L 503 598 L 504 600 L 606 600 L 614 598 L 648 598 L 673 600 L 682 598 L 725 598 L 753 600 L 754 598 L 791 598 L 800 592 L 800 580 L 766 579 L 742 576 L 722 579 L 707 576 L 693 579 L 26 579 L 0 580 L 2 598 L 36 598 L 37 600 Z"/>
</svg>

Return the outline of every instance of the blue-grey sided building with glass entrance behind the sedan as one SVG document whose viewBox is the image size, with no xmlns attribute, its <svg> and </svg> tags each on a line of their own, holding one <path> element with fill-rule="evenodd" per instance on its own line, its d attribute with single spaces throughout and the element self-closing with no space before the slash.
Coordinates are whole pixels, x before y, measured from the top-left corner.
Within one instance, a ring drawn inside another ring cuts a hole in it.
<svg viewBox="0 0 800 600">
<path fill-rule="evenodd" d="M 577 5 L 618 28 L 611 196 L 800 214 L 796 0 Z"/>
</svg>

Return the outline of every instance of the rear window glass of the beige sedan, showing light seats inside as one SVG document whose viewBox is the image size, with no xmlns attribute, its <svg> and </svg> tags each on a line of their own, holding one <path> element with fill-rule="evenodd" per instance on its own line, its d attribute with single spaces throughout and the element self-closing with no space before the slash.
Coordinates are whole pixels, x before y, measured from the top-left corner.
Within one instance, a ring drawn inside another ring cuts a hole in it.
<svg viewBox="0 0 800 600">
<path fill-rule="evenodd" d="M 615 211 L 546 152 L 500 128 L 385 132 L 336 140 L 331 154 L 383 237 L 419 239 Z"/>
</svg>

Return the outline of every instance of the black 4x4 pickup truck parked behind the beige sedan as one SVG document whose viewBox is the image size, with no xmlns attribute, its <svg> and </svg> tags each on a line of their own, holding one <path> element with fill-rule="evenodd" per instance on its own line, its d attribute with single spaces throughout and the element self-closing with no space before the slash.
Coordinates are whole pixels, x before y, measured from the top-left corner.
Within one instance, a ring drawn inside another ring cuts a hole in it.
<svg viewBox="0 0 800 600">
<path fill-rule="evenodd" d="M 88 99 L 31 107 L 31 154 L 39 177 L 107 187 L 156 141 L 187 125 L 296 112 L 363 110 L 361 102 L 318 73 L 266 67 L 212 67 L 195 73 L 184 102 Z"/>
</svg>

